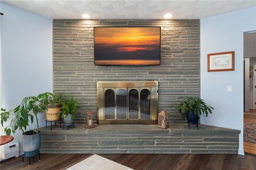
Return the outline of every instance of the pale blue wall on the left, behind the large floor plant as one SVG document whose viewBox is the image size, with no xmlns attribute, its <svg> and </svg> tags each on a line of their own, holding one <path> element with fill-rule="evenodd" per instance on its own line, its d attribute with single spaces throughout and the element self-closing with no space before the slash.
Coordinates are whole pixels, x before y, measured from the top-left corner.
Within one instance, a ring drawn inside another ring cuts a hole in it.
<svg viewBox="0 0 256 170">
<path fill-rule="evenodd" d="M 14 109 L 24 97 L 52 92 L 52 19 L 0 2 L 4 109 Z M 46 116 L 40 114 L 40 127 Z M 35 121 L 34 121 L 35 122 Z M 34 124 L 36 127 L 36 124 Z M 27 130 L 32 129 L 32 126 Z M 19 142 L 21 132 L 12 134 Z"/>
</svg>

